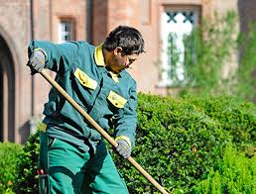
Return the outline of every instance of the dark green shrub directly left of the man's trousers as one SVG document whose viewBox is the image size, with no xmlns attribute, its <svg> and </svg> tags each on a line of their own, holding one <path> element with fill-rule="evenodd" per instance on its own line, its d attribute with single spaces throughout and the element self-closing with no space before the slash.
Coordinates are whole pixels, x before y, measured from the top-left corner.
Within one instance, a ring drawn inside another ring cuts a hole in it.
<svg viewBox="0 0 256 194">
<path fill-rule="evenodd" d="M 39 193 L 38 188 L 38 158 L 39 158 L 39 132 L 29 137 L 24 146 L 18 162 L 18 178 L 15 182 L 17 193 Z"/>
</svg>

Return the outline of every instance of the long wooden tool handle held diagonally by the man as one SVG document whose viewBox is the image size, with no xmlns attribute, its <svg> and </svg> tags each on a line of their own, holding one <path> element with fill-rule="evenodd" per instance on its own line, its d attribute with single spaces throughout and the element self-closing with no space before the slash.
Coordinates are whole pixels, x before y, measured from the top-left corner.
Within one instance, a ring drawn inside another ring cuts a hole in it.
<svg viewBox="0 0 256 194">
<path fill-rule="evenodd" d="M 82 109 L 80 106 L 64 91 L 64 89 L 43 69 L 40 74 L 47 79 L 47 81 L 54 86 L 64 98 L 104 137 L 110 145 L 117 147 L 117 143 Z M 168 192 L 146 171 L 140 164 L 138 164 L 131 156 L 127 158 L 128 161 L 144 176 L 146 177 L 159 191 L 164 194 Z"/>
</svg>

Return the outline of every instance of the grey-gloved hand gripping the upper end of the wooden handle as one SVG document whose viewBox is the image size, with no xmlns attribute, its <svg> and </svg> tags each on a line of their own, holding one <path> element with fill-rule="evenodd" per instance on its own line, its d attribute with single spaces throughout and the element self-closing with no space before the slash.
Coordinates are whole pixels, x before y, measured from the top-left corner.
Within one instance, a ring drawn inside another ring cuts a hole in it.
<svg viewBox="0 0 256 194">
<path fill-rule="evenodd" d="M 43 70 L 43 68 L 46 65 L 45 63 L 46 63 L 46 54 L 42 49 L 36 48 L 32 52 L 27 65 L 31 69 L 31 74 L 34 75 L 35 73 Z"/>
</svg>

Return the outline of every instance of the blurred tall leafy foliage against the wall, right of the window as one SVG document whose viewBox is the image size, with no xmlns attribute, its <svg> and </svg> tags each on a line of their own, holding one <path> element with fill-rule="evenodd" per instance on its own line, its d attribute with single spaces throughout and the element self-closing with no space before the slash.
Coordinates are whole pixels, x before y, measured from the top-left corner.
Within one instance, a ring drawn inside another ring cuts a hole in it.
<svg viewBox="0 0 256 194">
<path fill-rule="evenodd" d="M 192 34 L 184 36 L 184 52 L 174 44 L 176 35 L 170 34 L 172 86 L 181 88 L 181 96 L 225 93 L 254 101 L 256 24 L 251 24 L 248 33 L 244 34 L 235 29 L 236 23 L 237 13 L 234 11 L 202 21 Z M 184 80 L 177 79 L 176 74 L 181 54 L 184 54 Z"/>
</svg>

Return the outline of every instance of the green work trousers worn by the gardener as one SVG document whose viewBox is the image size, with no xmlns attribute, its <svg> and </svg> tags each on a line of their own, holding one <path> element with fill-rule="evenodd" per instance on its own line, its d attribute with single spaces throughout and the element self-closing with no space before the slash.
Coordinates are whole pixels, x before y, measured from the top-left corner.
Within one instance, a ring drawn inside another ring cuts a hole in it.
<svg viewBox="0 0 256 194">
<path fill-rule="evenodd" d="M 103 142 L 91 155 L 43 132 L 40 141 L 41 194 L 129 193 Z"/>
</svg>

